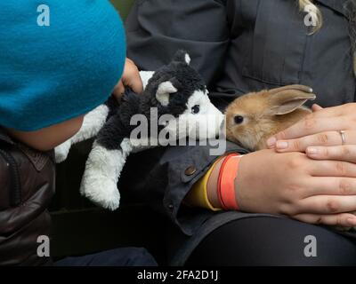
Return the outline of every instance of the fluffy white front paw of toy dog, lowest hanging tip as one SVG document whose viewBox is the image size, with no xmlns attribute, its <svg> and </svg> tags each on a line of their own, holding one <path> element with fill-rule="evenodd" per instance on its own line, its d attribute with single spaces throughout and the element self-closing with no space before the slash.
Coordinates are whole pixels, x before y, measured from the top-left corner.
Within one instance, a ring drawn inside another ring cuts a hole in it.
<svg viewBox="0 0 356 284">
<path fill-rule="evenodd" d="M 83 177 L 80 193 L 104 209 L 114 211 L 120 204 L 120 193 L 117 190 L 117 183 L 97 173 L 88 172 L 88 175 Z"/>
</svg>

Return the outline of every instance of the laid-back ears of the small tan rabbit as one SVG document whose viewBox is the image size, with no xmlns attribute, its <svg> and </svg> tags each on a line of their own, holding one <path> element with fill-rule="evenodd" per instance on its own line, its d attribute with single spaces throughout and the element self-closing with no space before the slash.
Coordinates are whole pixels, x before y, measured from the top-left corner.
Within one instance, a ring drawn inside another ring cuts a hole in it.
<svg viewBox="0 0 356 284">
<path fill-rule="evenodd" d="M 291 85 L 269 91 L 270 114 L 283 115 L 295 111 L 307 100 L 314 100 L 312 88 L 303 85 Z"/>
</svg>

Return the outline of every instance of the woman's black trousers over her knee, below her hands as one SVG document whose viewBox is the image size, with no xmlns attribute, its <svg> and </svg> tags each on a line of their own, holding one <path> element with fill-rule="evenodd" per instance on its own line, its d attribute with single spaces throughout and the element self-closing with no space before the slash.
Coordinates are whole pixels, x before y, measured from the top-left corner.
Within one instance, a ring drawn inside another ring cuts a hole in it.
<svg viewBox="0 0 356 284">
<path fill-rule="evenodd" d="M 210 233 L 186 265 L 356 265 L 356 243 L 318 225 L 250 217 Z"/>
</svg>

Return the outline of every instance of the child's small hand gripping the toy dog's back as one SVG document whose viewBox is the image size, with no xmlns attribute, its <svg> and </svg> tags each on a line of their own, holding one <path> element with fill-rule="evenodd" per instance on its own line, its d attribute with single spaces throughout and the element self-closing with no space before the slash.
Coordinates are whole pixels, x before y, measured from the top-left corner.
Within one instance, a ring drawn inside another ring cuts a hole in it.
<svg viewBox="0 0 356 284">
<path fill-rule="evenodd" d="M 130 87 L 136 93 L 142 93 L 143 91 L 139 69 L 136 67 L 133 60 L 127 58 L 125 61 L 124 73 L 114 91 L 112 91 L 115 98 L 121 99 L 125 92 L 125 86 Z"/>
</svg>

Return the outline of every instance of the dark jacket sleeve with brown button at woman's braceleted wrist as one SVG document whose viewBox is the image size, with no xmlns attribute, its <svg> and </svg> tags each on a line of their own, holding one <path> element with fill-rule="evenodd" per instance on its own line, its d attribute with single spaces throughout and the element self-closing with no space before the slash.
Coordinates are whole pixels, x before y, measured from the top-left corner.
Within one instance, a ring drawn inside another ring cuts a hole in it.
<svg viewBox="0 0 356 284">
<path fill-rule="evenodd" d="M 128 158 L 118 187 L 134 200 L 148 202 L 188 235 L 194 233 L 207 217 L 206 209 L 193 209 L 183 203 L 190 188 L 203 177 L 220 155 L 211 154 L 211 146 L 157 147 Z M 236 144 L 226 142 L 224 153 L 247 154 Z M 192 214 L 199 211 L 201 214 Z"/>
</svg>

